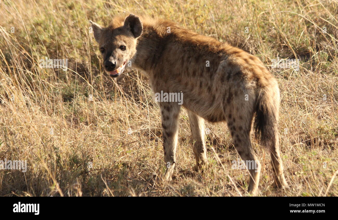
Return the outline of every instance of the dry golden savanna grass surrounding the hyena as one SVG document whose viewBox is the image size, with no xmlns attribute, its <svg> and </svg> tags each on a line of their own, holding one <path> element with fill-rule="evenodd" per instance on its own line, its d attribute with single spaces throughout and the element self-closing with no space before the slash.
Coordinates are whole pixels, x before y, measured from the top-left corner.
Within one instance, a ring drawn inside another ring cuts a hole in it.
<svg viewBox="0 0 338 220">
<path fill-rule="evenodd" d="M 88 22 L 107 25 L 114 15 L 135 13 L 227 41 L 276 77 L 290 188 L 273 187 L 269 154 L 254 140 L 260 196 L 337 196 L 337 12 L 336 0 L 1 1 L 0 160 L 27 160 L 28 168 L 0 170 L 0 195 L 246 195 L 248 172 L 232 169 L 238 155 L 225 125 L 206 123 L 209 166 L 192 172 L 184 110 L 173 182 L 149 178 L 161 177 L 164 163 L 147 76 L 130 70 L 110 78 Z M 68 59 L 68 70 L 41 68 L 45 57 Z M 277 57 L 300 59 L 299 71 L 272 68 Z"/>
</svg>

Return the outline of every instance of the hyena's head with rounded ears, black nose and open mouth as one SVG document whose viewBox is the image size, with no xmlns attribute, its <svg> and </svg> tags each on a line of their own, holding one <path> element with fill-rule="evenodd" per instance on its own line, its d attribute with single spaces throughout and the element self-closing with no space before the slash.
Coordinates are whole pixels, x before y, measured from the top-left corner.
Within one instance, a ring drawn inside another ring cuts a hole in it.
<svg viewBox="0 0 338 220">
<path fill-rule="evenodd" d="M 123 24 L 100 27 L 92 21 L 90 23 L 99 43 L 104 69 L 111 77 L 118 77 L 136 53 L 137 38 L 143 30 L 142 22 L 139 17 L 129 15 Z"/>
</svg>

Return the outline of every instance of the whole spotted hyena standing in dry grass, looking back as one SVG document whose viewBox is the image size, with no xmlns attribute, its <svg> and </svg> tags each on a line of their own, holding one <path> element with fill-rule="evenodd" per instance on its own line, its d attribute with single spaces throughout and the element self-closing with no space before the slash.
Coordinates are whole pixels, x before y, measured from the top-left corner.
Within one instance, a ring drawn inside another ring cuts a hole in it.
<svg viewBox="0 0 338 220">
<path fill-rule="evenodd" d="M 225 121 L 240 158 L 256 162 L 249 168 L 248 187 L 255 194 L 261 165 L 250 141 L 254 121 L 256 135 L 270 152 L 275 183 L 287 186 L 279 150 L 279 89 L 259 58 L 166 20 L 129 15 L 114 18 L 108 27 L 91 23 L 110 76 L 119 76 L 131 62 L 132 67 L 147 73 L 154 93 L 184 94 L 182 105 L 159 102 L 165 180 L 171 180 L 176 164 L 178 118 L 184 106 L 196 158 L 194 170 L 207 163 L 204 119 Z"/>
</svg>

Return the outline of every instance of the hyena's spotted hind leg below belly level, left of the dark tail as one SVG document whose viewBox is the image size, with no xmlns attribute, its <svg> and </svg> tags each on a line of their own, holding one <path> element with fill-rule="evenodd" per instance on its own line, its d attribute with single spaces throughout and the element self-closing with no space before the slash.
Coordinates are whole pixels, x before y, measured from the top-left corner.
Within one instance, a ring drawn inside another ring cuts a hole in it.
<svg viewBox="0 0 338 220">
<path fill-rule="evenodd" d="M 261 164 L 252 150 L 250 140 L 250 127 L 243 125 L 234 126 L 233 122 L 228 123 L 230 134 L 239 157 L 244 161 L 250 174 L 248 192 L 252 195 L 257 194 Z"/>
</svg>

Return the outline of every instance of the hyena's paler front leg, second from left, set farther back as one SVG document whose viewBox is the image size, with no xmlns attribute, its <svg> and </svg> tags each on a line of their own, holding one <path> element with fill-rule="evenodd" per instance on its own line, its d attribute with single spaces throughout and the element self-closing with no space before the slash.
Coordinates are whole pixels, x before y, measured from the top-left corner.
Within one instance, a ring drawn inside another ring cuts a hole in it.
<svg viewBox="0 0 338 220">
<path fill-rule="evenodd" d="M 188 116 L 193 142 L 193 151 L 196 159 L 196 165 L 193 167 L 193 170 L 198 171 L 202 165 L 208 162 L 206 144 L 204 141 L 204 120 L 191 111 L 188 111 Z"/>
</svg>

